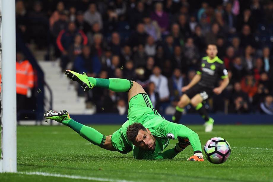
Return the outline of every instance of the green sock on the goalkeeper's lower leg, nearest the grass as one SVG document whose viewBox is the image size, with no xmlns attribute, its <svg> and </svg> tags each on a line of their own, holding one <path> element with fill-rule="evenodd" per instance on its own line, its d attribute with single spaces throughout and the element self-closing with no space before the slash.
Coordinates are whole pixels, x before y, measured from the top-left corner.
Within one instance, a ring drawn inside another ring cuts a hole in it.
<svg viewBox="0 0 273 182">
<path fill-rule="evenodd" d="M 89 142 L 93 143 L 94 145 L 102 146 L 104 145 L 106 136 L 98 132 L 97 130 L 85 126 L 83 124 L 78 123 L 77 121 L 74 121 L 73 119 L 64 120 L 62 121 L 62 124 L 69 126 L 72 128 L 75 132 L 80 134 L 83 138 L 88 140 Z"/>
</svg>

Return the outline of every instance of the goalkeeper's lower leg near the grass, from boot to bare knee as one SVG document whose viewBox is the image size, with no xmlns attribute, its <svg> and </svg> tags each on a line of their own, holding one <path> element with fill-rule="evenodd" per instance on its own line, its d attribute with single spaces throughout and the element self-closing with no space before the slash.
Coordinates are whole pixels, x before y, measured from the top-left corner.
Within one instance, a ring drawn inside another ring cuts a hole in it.
<svg viewBox="0 0 273 182">
<path fill-rule="evenodd" d="M 98 145 L 99 147 L 110 151 L 116 151 L 111 142 L 111 135 L 105 136 L 89 126 L 85 126 L 78 123 L 77 121 L 74 121 L 72 118 L 70 118 L 66 110 L 62 110 L 58 113 L 50 110 L 45 113 L 44 117 L 46 119 L 51 119 L 66 126 L 69 126 L 75 132 L 80 134 L 80 136 L 93 143 L 94 145 Z"/>
</svg>

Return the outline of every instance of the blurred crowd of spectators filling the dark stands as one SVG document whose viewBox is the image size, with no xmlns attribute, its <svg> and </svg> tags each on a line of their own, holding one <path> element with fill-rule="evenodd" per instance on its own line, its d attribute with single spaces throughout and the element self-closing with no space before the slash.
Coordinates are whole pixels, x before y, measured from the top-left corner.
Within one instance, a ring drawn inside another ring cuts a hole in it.
<svg viewBox="0 0 273 182">
<path fill-rule="evenodd" d="M 210 111 L 273 114 L 272 22 L 270 0 L 16 1 L 25 42 L 53 47 L 62 70 L 137 81 L 161 113 L 176 105 L 212 43 L 230 83 Z M 126 93 L 96 88 L 86 97 L 97 112 L 128 107 Z"/>
</svg>

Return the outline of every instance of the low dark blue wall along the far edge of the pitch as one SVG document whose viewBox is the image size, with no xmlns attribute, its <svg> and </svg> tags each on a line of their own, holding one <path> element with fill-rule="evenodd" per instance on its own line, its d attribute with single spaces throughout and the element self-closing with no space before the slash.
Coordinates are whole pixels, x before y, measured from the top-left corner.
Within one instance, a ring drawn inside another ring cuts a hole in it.
<svg viewBox="0 0 273 182">
<path fill-rule="evenodd" d="M 82 124 L 123 124 L 127 121 L 127 115 L 118 114 L 94 114 L 94 115 L 70 115 L 75 121 Z M 171 121 L 171 115 L 163 115 Z M 273 124 L 273 115 L 265 114 L 212 114 L 215 124 Z M 180 123 L 183 124 L 204 124 L 199 115 L 183 115 Z"/>
</svg>

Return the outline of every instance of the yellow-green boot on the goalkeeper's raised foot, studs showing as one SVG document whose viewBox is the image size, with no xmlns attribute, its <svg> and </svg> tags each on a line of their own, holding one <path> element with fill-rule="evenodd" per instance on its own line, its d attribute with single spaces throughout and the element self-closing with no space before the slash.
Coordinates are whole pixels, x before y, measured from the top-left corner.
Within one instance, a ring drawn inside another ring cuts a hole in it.
<svg viewBox="0 0 273 182">
<path fill-rule="evenodd" d="M 67 69 L 65 71 L 65 74 L 67 77 L 70 78 L 70 80 L 80 83 L 84 91 L 91 90 L 95 85 L 95 83 L 91 83 L 90 80 L 88 80 L 88 76 L 86 75 L 86 73 L 80 74 Z"/>
</svg>

